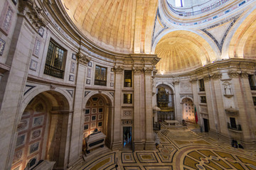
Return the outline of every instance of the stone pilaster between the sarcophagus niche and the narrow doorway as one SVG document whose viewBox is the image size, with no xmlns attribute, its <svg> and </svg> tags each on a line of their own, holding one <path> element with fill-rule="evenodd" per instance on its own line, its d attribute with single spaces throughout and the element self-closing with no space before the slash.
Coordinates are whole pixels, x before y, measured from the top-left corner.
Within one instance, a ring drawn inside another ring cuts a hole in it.
<svg viewBox="0 0 256 170">
<path fill-rule="evenodd" d="M 116 66 L 115 72 L 115 86 L 114 86 L 114 140 L 112 149 L 122 149 L 122 135 L 121 135 L 121 106 L 122 106 L 122 79 L 124 67 Z"/>
</svg>

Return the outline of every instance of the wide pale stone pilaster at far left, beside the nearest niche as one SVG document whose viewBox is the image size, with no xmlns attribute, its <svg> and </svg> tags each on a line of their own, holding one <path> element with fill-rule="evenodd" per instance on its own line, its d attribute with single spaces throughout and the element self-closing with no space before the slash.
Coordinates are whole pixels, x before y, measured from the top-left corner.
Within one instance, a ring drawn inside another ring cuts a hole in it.
<svg viewBox="0 0 256 170">
<path fill-rule="evenodd" d="M 21 100 L 28 76 L 35 34 L 23 16 L 18 16 L 16 24 L 13 23 L 12 26 L 15 27 L 15 37 L 11 40 L 11 47 L 5 63 L 6 66 L 10 66 L 10 69 L 1 77 L 0 83 L 1 169 L 11 169 L 17 126 L 23 113 L 20 111 Z"/>
</svg>

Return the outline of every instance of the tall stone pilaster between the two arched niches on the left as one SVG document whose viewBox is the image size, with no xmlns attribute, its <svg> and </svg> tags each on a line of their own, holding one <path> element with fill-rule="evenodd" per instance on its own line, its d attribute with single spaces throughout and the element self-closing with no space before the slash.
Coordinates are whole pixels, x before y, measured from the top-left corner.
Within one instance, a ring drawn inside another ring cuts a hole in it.
<svg viewBox="0 0 256 170">
<path fill-rule="evenodd" d="M 82 101 L 85 93 L 85 75 L 87 63 L 90 61 L 90 57 L 82 55 L 78 52 L 78 71 L 76 75 L 76 88 L 74 96 L 74 113 L 72 121 L 72 132 L 70 139 L 70 160 L 69 166 L 81 161 L 82 158 L 82 137 L 83 137 L 83 124 L 84 113 Z"/>
</svg>

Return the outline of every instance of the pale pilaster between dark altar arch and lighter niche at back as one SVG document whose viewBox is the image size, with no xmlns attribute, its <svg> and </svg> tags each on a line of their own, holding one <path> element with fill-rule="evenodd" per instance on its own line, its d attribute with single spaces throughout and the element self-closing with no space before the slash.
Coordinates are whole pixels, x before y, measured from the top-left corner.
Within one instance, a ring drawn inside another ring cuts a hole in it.
<svg viewBox="0 0 256 170">
<path fill-rule="evenodd" d="M 180 98 L 180 89 L 179 89 L 179 81 L 174 80 L 174 90 L 175 90 L 175 120 L 181 121 L 182 118 L 182 107 L 181 107 L 181 98 Z"/>
</svg>

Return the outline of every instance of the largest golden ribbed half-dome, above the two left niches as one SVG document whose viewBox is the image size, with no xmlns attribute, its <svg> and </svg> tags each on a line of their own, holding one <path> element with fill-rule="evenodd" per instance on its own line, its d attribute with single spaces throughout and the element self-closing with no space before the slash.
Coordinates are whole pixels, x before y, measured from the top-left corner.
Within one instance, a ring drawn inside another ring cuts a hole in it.
<svg viewBox="0 0 256 170">
<path fill-rule="evenodd" d="M 112 52 L 151 52 L 157 0 L 60 0 L 75 26 Z"/>
</svg>

